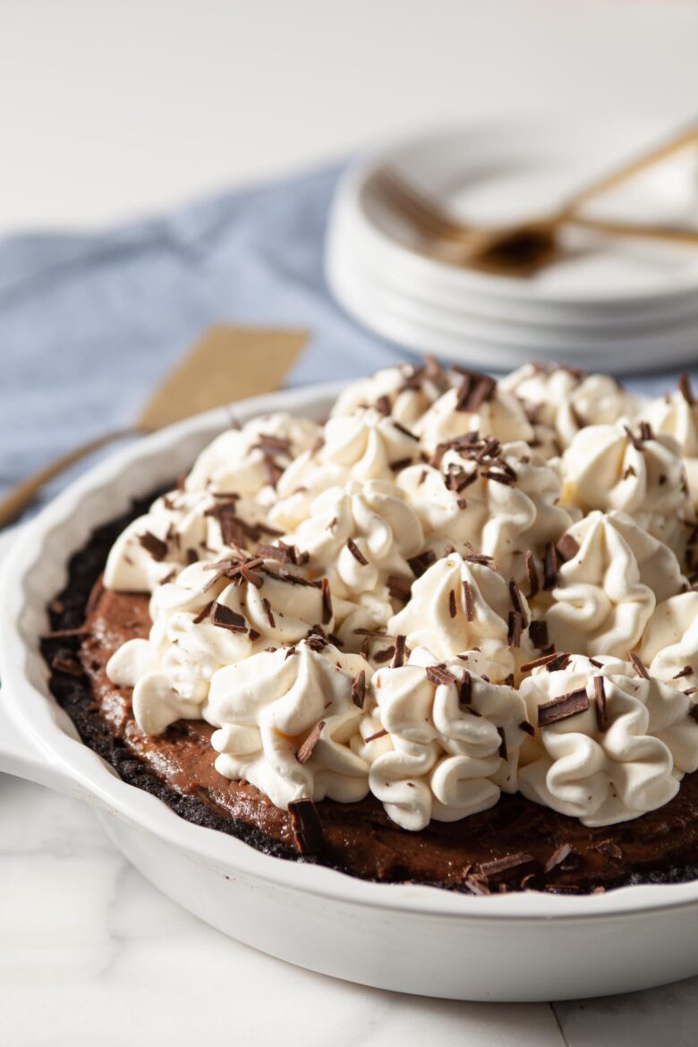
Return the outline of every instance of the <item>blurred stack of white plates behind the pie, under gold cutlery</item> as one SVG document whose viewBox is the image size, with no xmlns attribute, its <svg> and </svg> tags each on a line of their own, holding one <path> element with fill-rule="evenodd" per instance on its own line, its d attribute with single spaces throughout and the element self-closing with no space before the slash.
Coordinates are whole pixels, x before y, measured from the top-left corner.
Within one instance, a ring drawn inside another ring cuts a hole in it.
<svg viewBox="0 0 698 1047">
<path fill-rule="evenodd" d="M 609 118 L 491 120 L 377 152 L 338 187 L 330 287 L 384 337 L 480 367 L 537 359 L 628 372 L 696 361 L 698 246 L 570 226 L 561 261 L 532 277 L 502 277 L 418 252 L 419 235 L 368 184 L 388 164 L 464 222 L 516 222 L 551 210 L 668 130 Z M 695 152 L 637 176 L 586 214 L 698 225 Z"/>
</svg>

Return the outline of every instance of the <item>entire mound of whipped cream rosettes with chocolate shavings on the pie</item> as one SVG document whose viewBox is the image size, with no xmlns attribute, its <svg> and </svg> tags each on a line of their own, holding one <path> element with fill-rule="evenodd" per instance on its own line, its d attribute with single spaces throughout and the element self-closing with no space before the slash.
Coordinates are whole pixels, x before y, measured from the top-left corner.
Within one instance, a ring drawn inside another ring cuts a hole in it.
<svg viewBox="0 0 698 1047">
<path fill-rule="evenodd" d="M 661 806 L 698 766 L 698 430 L 685 382 L 636 414 L 606 376 L 427 360 L 323 425 L 230 429 L 115 541 L 105 584 L 152 628 L 107 674 L 147 734 L 211 723 L 220 774 L 282 808 Z"/>
</svg>

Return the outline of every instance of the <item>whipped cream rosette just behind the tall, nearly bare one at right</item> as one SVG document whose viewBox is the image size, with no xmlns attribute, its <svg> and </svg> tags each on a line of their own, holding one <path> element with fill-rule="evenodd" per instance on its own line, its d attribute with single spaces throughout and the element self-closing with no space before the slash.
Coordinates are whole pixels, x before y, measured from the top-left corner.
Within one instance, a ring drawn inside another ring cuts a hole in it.
<svg viewBox="0 0 698 1047">
<path fill-rule="evenodd" d="M 562 502 L 583 513 L 618 509 L 668 545 L 681 534 L 688 488 L 680 448 L 647 422 L 587 425 L 562 455 Z"/>
</svg>

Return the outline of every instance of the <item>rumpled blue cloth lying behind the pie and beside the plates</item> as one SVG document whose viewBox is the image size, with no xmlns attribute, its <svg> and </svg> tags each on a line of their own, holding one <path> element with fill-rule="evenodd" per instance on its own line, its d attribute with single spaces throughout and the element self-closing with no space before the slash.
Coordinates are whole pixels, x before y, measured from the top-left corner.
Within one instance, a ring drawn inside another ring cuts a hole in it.
<svg viewBox="0 0 698 1047">
<path fill-rule="evenodd" d="M 128 425 L 216 321 L 312 329 L 290 384 L 348 379 L 409 357 L 355 324 L 325 286 L 338 174 L 314 171 L 96 233 L 0 241 L 0 491 Z M 632 384 L 662 392 L 675 377 Z"/>
</svg>

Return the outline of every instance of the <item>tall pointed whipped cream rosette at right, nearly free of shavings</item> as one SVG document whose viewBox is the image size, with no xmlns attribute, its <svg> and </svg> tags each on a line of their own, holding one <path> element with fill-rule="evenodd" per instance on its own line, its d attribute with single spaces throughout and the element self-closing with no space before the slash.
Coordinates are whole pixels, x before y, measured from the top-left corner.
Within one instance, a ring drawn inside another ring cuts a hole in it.
<svg viewBox="0 0 698 1047">
<path fill-rule="evenodd" d="M 594 511 L 558 543 L 568 557 L 548 580 L 545 621 L 558 650 L 625 658 L 657 601 L 685 584 L 674 553 L 625 513 Z"/>
</svg>

